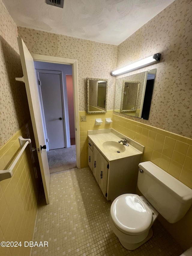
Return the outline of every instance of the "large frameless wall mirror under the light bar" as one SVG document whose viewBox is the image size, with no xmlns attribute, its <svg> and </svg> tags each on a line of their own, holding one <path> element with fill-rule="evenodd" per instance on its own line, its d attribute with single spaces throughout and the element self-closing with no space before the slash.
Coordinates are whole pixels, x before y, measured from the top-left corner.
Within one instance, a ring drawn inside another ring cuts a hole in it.
<svg viewBox="0 0 192 256">
<path fill-rule="evenodd" d="M 151 107 L 151 100 L 152 100 L 152 94 L 153 94 L 153 86 L 155 81 L 155 73 L 156 68 L 141 72 L 138 74 L 134 74 L 127 77 L 122 77 L 116 80 L 116 92 L 115 92 L 115 107 L 114 111 L 118 113 L 123 113 L 125 115 L 129 116 L 135 116 L 142 119 L 149 119 L 149 112 Z M 134 83 L 136 87 L 134 88 L 134 91 L 130 91 L 130 86 L 128 86 L 128 89 L 125 87 L 126 83 Z M 137 91 L 137 98 L 136 98 L 136 90 Z M 126 91 L 127 90 L 127 91 Z M 128 96 L 128 94 L 130 94 Z M 127 95 L 127 96 L 126 96 Z M 129 98 L 136 99 L 135 108 L 134 108 L 134 102 L 131 101 L 131 104 L 125 104 L 129 103 Z M 128 106 L 126 106 L 128 105 Z M 125 107 L 128 107 L 125 109 Z M 130 111 L 131 108 L 131 111 Z"/>
</svg>

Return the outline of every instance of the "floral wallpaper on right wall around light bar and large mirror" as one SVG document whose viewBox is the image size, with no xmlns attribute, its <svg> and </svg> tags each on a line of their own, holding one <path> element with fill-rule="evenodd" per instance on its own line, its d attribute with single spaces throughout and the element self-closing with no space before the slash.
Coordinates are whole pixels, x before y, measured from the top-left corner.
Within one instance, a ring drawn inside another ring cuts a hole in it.
<svg viewBox="0 0 192 256">
<path fill-rule="evenodd" d="M 117 68 L 155 53 L 161 62 L 142 69 L 157 68 L 149 120 L 117 115 L 192 137 L 191 10 L 192 1 L 176 0 L 118 46 Z"/>
</svg>

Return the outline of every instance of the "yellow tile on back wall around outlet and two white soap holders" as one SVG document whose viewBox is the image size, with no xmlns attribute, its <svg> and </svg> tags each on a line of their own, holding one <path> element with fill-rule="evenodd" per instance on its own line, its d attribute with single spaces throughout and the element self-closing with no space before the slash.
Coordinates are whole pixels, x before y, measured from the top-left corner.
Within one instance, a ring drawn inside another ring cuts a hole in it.
<svg viewBox="0 0 192 256">
<path fill-rule="evenodd" d="M 81 116 L 86 116 L 87 121 L 81 122 Z M 113 110 L 107 110 L 107 113 L 101 114 L 87 114 L 86 111 L 79 111 L 81 168 L 88 166 L 88 131 L 112 128 L 112 123 L 105 124 L 105 119 L 112 119 L 112 117 Z M 96 118 L 101 118 L 103 123 L 101 125 L 95 125 Z"/>
</svg>

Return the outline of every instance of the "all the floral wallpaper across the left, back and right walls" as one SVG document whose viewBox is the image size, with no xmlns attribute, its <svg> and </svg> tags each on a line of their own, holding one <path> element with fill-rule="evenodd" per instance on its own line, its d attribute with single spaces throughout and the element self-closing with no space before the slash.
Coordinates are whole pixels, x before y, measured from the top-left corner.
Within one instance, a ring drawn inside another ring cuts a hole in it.
<svg viewBox="0 0 192 256">
<path fill-rule="evenodd" d="M 110 72 L 154 53 L 161 62 L 131 72 L 157 68 L 149 120 L 125 116 L 186 137 L 192 137 L 191 31 L 192 2 L 176 0 L 118 47 L 18 27 L 0 0 L 0 146 L 29 118 L 17 33 L 31 53 L 78 60 L 79 110 L 86 110 L 86 78 L 108 79 L 108 110 L 114 109 L 115 80 Z M 124 75 L 127 76 L 127 75 Z"/>
</svg>

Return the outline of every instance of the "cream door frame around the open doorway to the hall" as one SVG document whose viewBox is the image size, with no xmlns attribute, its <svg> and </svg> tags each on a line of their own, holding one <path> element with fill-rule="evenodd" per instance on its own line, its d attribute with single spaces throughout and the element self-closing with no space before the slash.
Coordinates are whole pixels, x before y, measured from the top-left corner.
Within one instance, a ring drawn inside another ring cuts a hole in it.
<svg viewBox="0 0 192 256">
<path fill-rule="evenodd" d="M 76 59 L 67 59 L 67 58 L 62 58 L 62 57 L 55 57 L 55 56 L 47 56 L 47 55 L 41 55 L 41 54 L 34 54 L 34 53 L 32 53 L 31 55 L 32 55 L 34 61 L 68 64 L 68 65 L 72 66 L 74 118 L 75 118 L 76 164 L 77 164 L 77 168 L 81 168 L 77 60 Z"/>
</svg>

